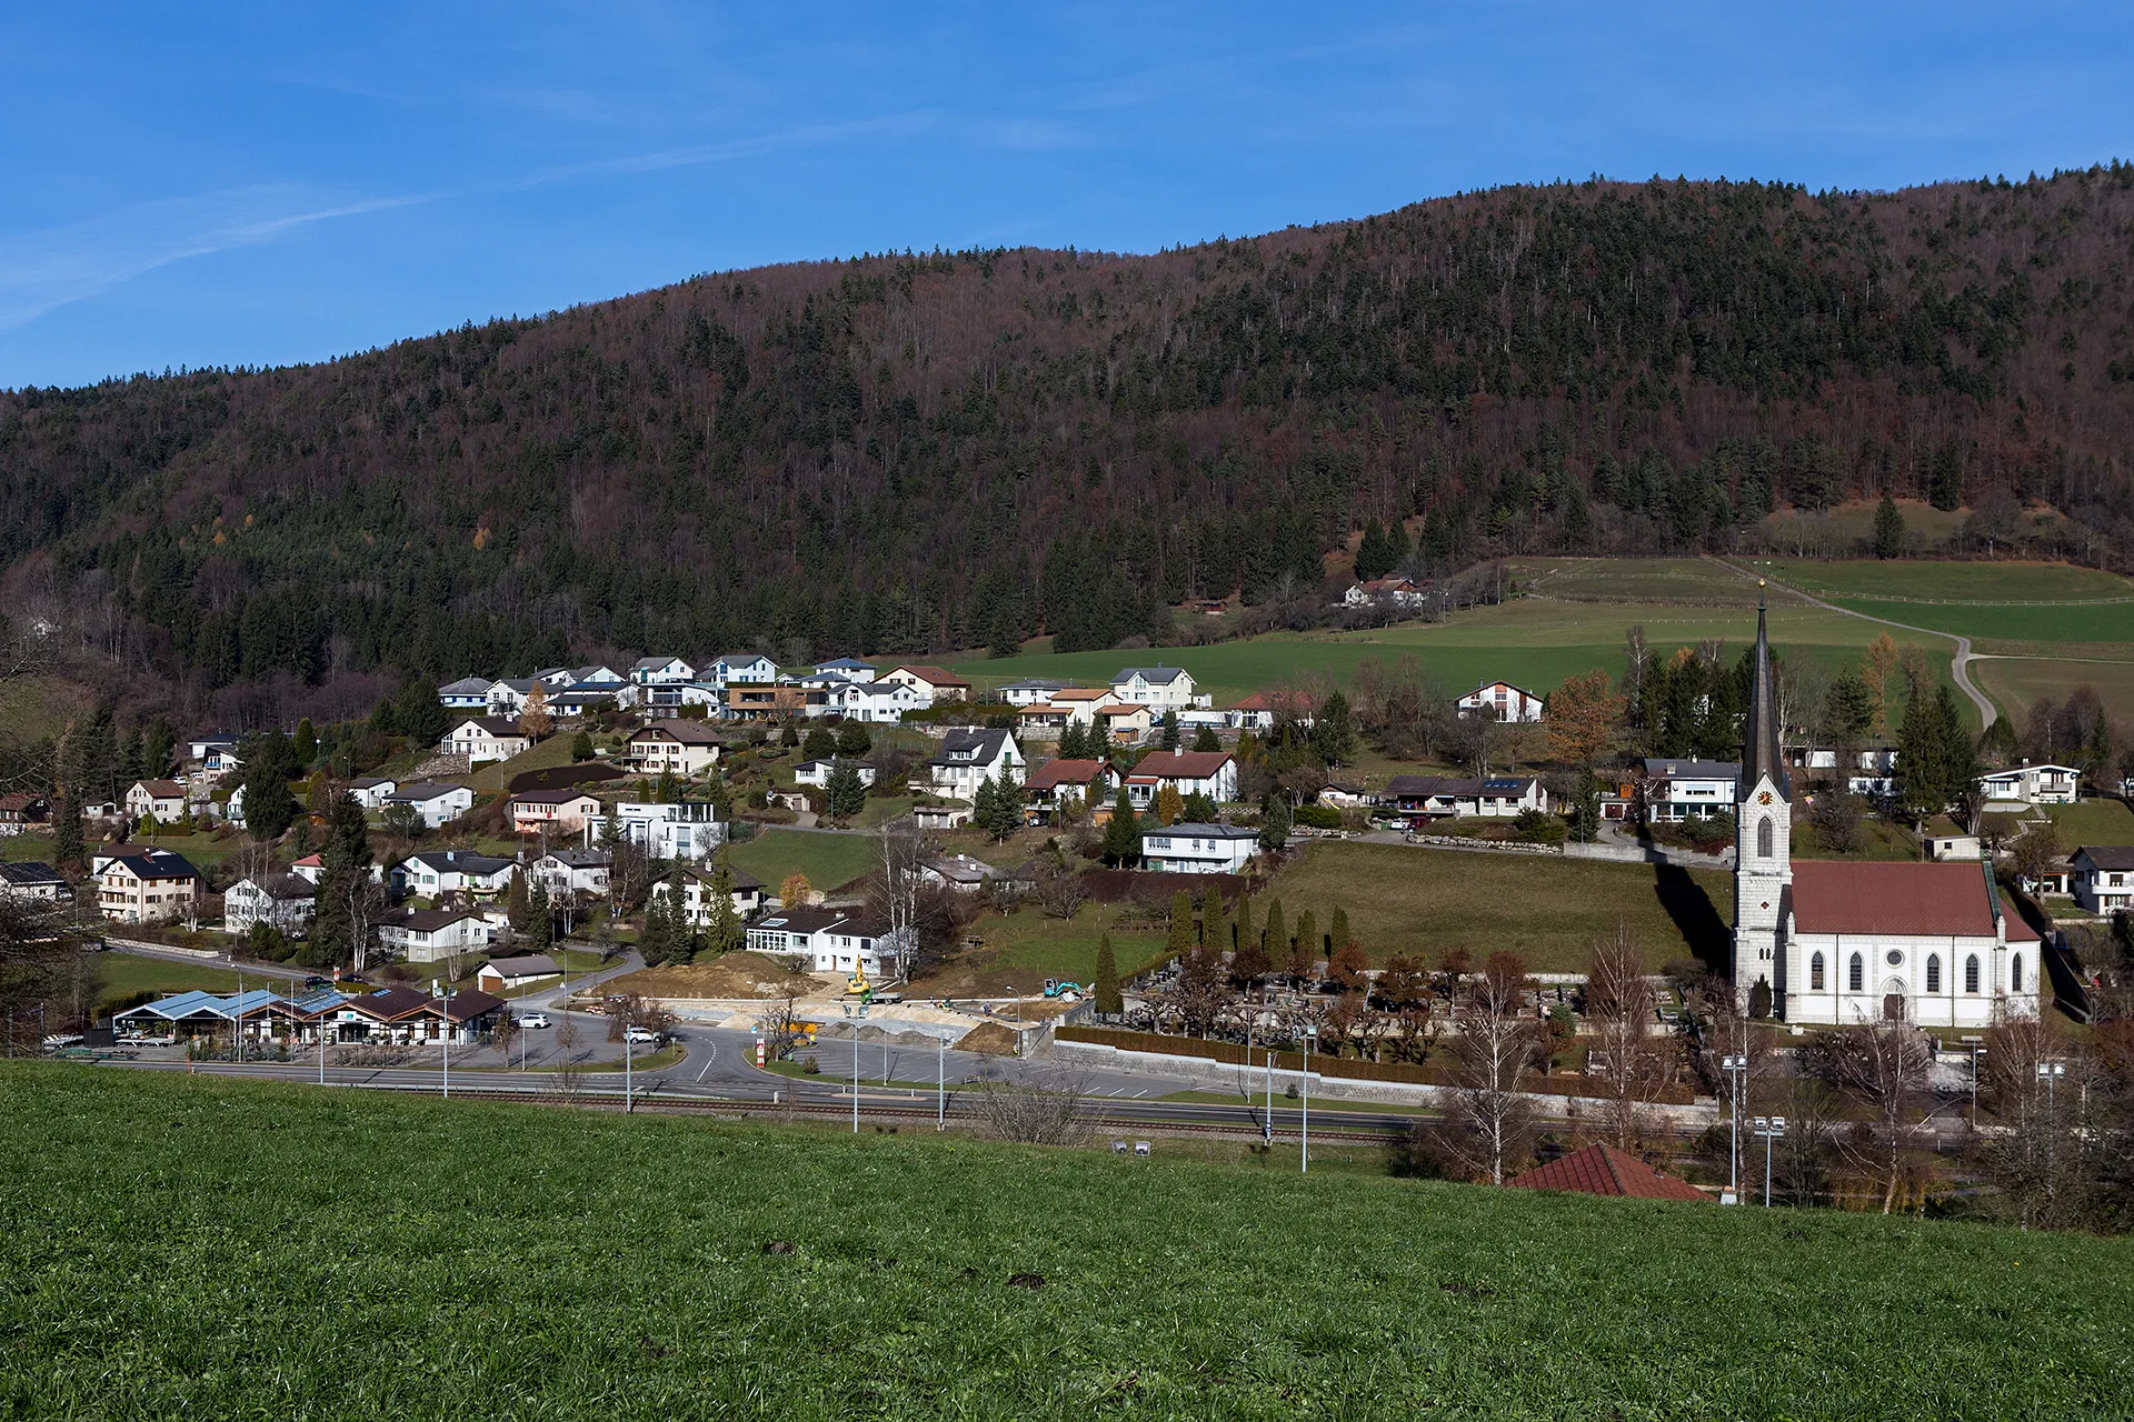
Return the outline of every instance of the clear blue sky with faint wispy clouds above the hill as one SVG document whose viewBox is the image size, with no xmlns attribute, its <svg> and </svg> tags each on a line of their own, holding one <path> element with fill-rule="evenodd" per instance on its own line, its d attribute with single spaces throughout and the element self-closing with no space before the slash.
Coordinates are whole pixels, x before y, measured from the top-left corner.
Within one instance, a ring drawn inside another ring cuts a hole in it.
<svg viewBox="0 0 2134 1422">
<path fill-rule="evenodd" d="M 0 34 L 0 386 L 1588 173 L 1897 188 L 2134 158 L 2123 4 L 11 0 Z"/>
</svg>

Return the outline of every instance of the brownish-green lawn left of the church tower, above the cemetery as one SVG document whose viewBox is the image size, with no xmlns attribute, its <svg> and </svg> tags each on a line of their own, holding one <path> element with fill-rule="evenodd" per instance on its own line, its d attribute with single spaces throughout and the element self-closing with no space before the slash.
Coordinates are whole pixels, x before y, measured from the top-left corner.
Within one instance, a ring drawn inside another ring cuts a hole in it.
<svg viewBox="0 0 2134 1422">
<path fill-rule="evenodd" d="M 1720 870 L 1406 844 L 1312 844 L 1255 898 L 1255 923 L 1270 895 L 1291 927 L 1308 908 L 1325 932 L 1334 908 L 1347 908 L 1372 962 L 1421 953 L 1436 964 L 1466 949 L 1479 964 L 1511 949 L 1534 972 L 1583 972 L 1618 919 L 1654 968 L 1720 962 L 1733 921 L 1733 880 Z"/>
</svg>

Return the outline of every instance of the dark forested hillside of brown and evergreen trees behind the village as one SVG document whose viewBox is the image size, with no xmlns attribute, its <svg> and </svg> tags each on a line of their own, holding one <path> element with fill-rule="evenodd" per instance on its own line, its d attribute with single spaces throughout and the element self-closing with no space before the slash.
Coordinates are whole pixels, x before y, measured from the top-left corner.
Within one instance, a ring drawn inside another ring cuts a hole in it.
<svg viewBox="0 0 2134 1422">
<path fill-rule="evenodd" d="M 1428 573 L 1895 490 L 2002 546 L 2051 505 L 2049 552 L 2123 567 L 2130 264 L 2113 164 L 706 275 L 0 392 L 0 605 L 230 708 L 651 648 L 1161 642 L 1172 601 L 1317 595 L 1359 529 Z"/>
</svg>

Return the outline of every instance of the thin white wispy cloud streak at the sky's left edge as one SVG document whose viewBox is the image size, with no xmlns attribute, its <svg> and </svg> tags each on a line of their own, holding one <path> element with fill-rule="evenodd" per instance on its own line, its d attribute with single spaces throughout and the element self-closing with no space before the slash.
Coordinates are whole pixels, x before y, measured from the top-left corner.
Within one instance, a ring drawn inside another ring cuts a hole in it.
<svg viewBox="0 0 2134 1422">
<path fill-rule="evenodd" d="M 0 239 L 0 330 L 87 301 L 171 262 L 256 247 L 335 217 L 427 200 L 401 196 L 309 207 L 303 205 L 307 196 L 316 203 L 316 194 L 294 188 L 162 198 Z"/>
</svg>

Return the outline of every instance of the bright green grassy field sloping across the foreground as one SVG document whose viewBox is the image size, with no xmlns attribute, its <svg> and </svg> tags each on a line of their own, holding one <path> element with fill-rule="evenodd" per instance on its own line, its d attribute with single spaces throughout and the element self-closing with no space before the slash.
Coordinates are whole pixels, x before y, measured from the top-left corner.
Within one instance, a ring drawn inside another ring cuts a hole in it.
<svg viewBox="0 0 2134 1422">
<path fill-rule="evenodd" d="M 2076 1418 L 2123 1413 L 2134 1352 L 2128 1241 L 1163 1141 L 47 1064 L 0 1092 L 23 1418 Z"/>
</svg>

